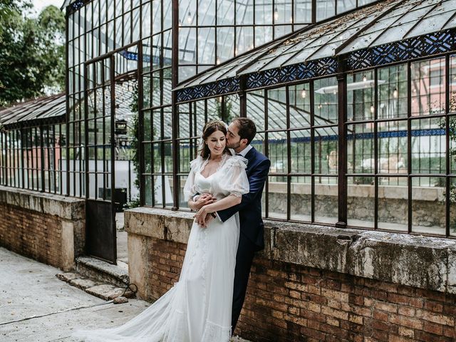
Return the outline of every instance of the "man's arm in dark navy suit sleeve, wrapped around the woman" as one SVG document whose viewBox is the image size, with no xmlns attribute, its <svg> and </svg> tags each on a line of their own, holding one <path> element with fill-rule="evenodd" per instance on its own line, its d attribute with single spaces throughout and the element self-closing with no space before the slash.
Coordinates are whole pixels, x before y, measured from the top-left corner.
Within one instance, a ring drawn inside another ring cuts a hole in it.
<svg viewBox="0 0 456 342">
<path fill-rule="evenodd" d="M 225 222 L 239 212 L 239 210 L 242 210 L 248 204 L 252 203 L 252 201 L 263 191 L 264 182 L 266 182 L 270 166 L 271 161 L 269 159 L 265 159 L 259 163 L 249 177 L 249 193 L 242 195 L 242 202 L 234 205 L 234 207 L 217 212 L 217 215 L 222 222 Z"/>
</svg>

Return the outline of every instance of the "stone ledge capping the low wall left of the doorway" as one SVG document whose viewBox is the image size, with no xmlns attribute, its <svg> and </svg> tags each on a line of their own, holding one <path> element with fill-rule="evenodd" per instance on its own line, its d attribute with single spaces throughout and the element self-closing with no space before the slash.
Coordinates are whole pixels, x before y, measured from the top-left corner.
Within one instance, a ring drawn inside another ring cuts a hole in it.
<svg viewBox="0 0 456 342">
<path fill-rule="evenodd" d="M 86 219 L 86 200 L 80 198 L 0 186 L 0 203 L 43 214 L 57 215 L 62 219 Z"/>
</svg>

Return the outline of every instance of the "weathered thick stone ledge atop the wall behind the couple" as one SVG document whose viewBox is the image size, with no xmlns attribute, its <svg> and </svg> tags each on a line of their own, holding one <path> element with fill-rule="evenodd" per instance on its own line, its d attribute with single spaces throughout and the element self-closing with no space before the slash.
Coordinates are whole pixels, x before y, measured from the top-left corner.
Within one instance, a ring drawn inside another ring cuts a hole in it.
<svg viewBox="0 0 456 342">
<path fill-rule="evenodd" d="M 125 211 L 129 234 L 187 243 L 192 212 Z M 456 294 L 456 240 L 265 221 L 272 260 Z"/>
</svg>

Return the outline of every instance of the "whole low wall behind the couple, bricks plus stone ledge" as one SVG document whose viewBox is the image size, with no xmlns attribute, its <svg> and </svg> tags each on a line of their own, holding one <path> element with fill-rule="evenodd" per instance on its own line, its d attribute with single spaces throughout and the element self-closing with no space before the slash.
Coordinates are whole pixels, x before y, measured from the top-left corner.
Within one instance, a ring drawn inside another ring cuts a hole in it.
<svg viewBox="0 0 456 342">
<path fill-rule="evenodd" d="M 130 266 L 142 264 L 147 270 L 146 277 L 138 277 L 139 293 L 155 300 L 179 278 L 190 224 L 183 223 L 187 217 L 182 213 L 137 210 L 125 216 L 125 224 L 129 240 L 136 239 L 136 246 L 143 248 L 129 261 Z M 356 239 L 350 242 L 348 229 L 308 228 L 311 233 L 284 224 L 282 233 L 299 234 L 287 239 L 266 229 L 266 249 L 254 259 L 236 334 L 252 342 L 456 341 L 456 294 L 451 281 L 455 241 L 354 231 Z M 331 239 L 344 248 L 331 249 Z M 391 245 L 383 249 L 375 245 L 377 240 Z M 294 245 L 298 242 L 299 248 Z M 418 251 L 420 259 L 410 251 Z M 349 264 L 336 258 L 337 253 L 345 253 Z M 363 255 L 371 259 L 361 262 Z M 321 266 L 307 265 L 318 262 Z M 359 264 L 366 264 L 366 269 L 359 269 Z"/>
</svg>

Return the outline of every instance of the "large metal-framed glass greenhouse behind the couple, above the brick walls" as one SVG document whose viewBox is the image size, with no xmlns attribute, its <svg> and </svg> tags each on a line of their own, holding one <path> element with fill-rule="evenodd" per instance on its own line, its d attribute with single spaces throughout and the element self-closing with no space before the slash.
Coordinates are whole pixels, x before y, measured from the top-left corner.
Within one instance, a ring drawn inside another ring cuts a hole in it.
<svg viewBox="0 0 456 342">
<path fill-rule="evenodd" d="M 265 218 L 456 235 L 456 1 L 63 9 L 66 96 L 0 111 L 0 182 L 85 198 L 89 250 L 128 202 L 188 210 L 202 126 L 237 116 L 271 160 Z"/>
</svg>

